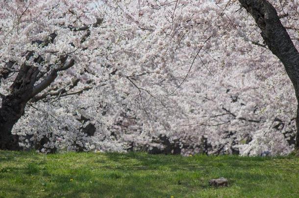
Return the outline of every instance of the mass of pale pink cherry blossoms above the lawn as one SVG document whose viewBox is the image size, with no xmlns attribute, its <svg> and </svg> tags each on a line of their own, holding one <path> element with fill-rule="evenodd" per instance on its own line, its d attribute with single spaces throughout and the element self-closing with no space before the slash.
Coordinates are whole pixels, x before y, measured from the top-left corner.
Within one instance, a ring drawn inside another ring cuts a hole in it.
<svg viewBox="0 0 299 198">
<path fill-rule="evenodd" d="M 183 154 L 290 153 L 296 97 L 281 62 L 296 61 L 277 54 L 267 22 L 288 30 L 279 38 L 296 53 L 299 2 L 270 3 L 3 2 L 1 115 L 15 118 L 3 121 L 13 128 L 1 131 L 1 148 L 17 149 L 14 137 L 29 137 L 23 146 L 34 140 L 45 152 L 151 150 L 170 142 Z M 268 20 L 268 10 L 276 17 Z M 36 77 L 23 90 L 17 82 L 32 76 L 20 73 L 25 67 Z M 16 95 L 21 102 L 7 109 Z"/>
</svg>

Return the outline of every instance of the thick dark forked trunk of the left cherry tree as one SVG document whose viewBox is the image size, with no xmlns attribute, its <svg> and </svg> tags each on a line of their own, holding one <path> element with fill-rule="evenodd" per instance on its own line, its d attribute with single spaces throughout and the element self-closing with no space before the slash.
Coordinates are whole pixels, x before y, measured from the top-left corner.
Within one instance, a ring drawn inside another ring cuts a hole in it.
<svg viewBox="0 0 299 198">
<path fill-rule="evenodd" d="M 93 26 L 97 27 L 101 22 L 102 20 L 98 19 Z M 88 29 L 89 26 L 84 26 L 82 30 L 86 30 L 86 28 Z M 33 41 L 32 43 L 38 43 L 41 47 L 44 47 L 53 43 L 56 36 L 57 34 L 52 33 L 44 41 L 42 41 L 41 44 L 39 40 Z M 87 37 L 88 36 L 89 34 Z M 28 51 L 26 54 L 26 60 L 32 58 L 34 54 L 34 51 Z M 60 67 L 49 70 L 48 74 L 40 73 L 37 67 L 27 65 L 26 63 L 21 66 L 17 77 L 10 87 L 10 94 L 2 98 L 2 106 L 0 108 L 0 149 L 20 149 L 18 136 L 11 134 L 13 126 L 23 115 L 26 103 L 36 94 L 50 86 L 50 84 L 56 79 L 58 71 L 64 71 L 74 66 L 75 60 L 71 58 L 67 61 L 68 57 L 69 55 L 60 56 Z M 41 64 L 44 62 L 44 59 L 41 56 L 38 56 L 33 61 Z M 7 67 L 10 68 L 13 64 L 15 64 L 15 61 L 9 61 L 7 63 Z M 4 77 L 7 76 L 8 74 L 5 73 Z M 40 83 L 35 85 L 38 81 L 40 81 Z"/>
</svg>

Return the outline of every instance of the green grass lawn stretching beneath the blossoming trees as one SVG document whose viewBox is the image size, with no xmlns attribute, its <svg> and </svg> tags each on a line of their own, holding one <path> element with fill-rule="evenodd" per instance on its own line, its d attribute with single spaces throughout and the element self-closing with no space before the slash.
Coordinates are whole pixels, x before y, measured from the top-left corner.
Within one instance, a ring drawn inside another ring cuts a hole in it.
<svg viewBox="0 0 299 198">
<path fill-rule="evenodd" d="M 171 196 L 298 198 L 299 158 L 0 151 L 0 198 Z"/>
</svg>

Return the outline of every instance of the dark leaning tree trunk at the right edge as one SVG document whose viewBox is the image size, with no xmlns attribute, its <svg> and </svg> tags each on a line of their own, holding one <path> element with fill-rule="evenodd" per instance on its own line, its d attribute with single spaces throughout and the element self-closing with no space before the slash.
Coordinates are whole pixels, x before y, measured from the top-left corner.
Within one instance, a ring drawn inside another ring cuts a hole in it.
<svg viewBox="0 0 299 198">
<path fill-rule="evenodd" d="M 269 47 L 285 67 L 295 88 L 299 102 L 299 52 L 292 42 L 285 27 L 281 24 L 273 5 L 267 0 L 239 0 L 242 6 L 254 18 L 261 29 L 261 35 Z M 295 148 L 299 150 L 299 105 L 297 107 L 297 135 Z"/>
</svg>

